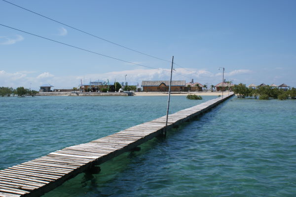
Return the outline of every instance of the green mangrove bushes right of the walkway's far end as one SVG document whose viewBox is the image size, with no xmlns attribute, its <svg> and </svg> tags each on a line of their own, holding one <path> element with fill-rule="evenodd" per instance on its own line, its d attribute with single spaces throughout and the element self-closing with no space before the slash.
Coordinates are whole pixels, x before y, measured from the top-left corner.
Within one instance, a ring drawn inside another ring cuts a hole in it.
<svg viewBox="0 0 296 197">
<path fill-rule="evenodd" d="M 257 88 L 247 87 L 246 84 L 238 84 L 233 86 L 233 92 L 238 98 L 255 98 L 259 100 L 268 100 L 269 98 L 286 100 L 288 98 L 295 99 L 296 88 L 281 89 L 271 86 L 258 86 Z"/>
</svg>

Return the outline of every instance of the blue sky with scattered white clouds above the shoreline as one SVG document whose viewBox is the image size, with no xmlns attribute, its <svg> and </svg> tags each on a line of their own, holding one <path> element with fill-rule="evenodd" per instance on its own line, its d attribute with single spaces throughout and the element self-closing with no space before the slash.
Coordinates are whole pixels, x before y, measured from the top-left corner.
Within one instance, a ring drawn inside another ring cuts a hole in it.
<svg viewBox="0 0 296 197">
<path fill-rule="evenodd" d="M 296 86 L 295 0 L 9 0 L 143 53 L 174 61 L 173 80 Z M 154 68 L 144 56 L 0 0 L 0 24 Z M 0 26 L 0 86 L 74 87 L 84 79 L 169 80 L 169 72 L 80 51 Z M 180 75 L 181 74 L 181 75 Z M 183 75 L 183 76 L 182 76 Z"/>
</svg>

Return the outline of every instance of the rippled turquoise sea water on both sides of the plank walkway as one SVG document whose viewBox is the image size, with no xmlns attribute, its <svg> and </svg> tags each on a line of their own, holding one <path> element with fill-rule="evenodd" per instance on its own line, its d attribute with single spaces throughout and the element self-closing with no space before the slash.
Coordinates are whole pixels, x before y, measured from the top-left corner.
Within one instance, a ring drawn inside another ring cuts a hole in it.
<svg viewBox="0 0 296 197">
<path fill-rule="evenodd" d="M 174 96 L 172 111 L 212 98 Z M 165 102 L 160 96 L 0 98 L 0 168 L 157 118 Z M 141 151 L 106 162 L 101 173 L 81 173 L 44 196 L 294 197 L 295 120 L 295 100 L 232 98 Z"/>
</svg>

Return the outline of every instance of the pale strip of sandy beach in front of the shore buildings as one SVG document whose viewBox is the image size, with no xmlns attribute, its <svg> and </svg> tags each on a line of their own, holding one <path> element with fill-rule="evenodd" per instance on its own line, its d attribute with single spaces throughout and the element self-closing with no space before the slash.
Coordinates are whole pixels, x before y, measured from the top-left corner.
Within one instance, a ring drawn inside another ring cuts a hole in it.
<svg viewBox="0 0 296 197">
<path fill-rule="evenodd" d="M 188 94 L 196 94 L 200 96 L 218 96 L 222 95 L 222 92 L 171 92 L 172 96 L 187 96 Z M 223 92 L 228 95 L 228 92 Z M 134 96 L 167 96 L 168 92 L 135 92 Z"/>
</svg>

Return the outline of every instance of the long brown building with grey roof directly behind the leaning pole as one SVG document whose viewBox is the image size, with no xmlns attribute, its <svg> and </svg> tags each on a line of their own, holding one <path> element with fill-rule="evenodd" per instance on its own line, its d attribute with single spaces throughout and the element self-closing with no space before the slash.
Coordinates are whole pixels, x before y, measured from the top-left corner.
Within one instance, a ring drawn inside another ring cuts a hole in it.
<svg viewBox="0 0 296 197">
<path fill-rule="evenodd" d="M 169 91 L 170 81 L 142 81 L 143 91 L 145 92 L 167 92 Z M 171 91 L 184 91 L 185 81 L 172 81 Z"/>
</svg>

